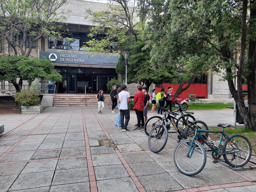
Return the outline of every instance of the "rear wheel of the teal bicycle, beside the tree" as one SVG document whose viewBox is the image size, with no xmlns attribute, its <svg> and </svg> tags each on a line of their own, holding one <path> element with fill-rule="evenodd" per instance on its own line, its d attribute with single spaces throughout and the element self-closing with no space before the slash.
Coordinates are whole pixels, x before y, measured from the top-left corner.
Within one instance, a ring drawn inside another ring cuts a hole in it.
<svg viewBox="0 0 256 192">
<path fill-rule="evenodd" d="M 252 155 L 252 146 L 249 140 L 239 134 L 231 135 L 229 137 L 235 145 L 226 139 L 223 144 L 223 153 L 235 152 L 223 155 L 225 162 L 231 167 L 243 167 L 248 163 Z"/>
</svg>

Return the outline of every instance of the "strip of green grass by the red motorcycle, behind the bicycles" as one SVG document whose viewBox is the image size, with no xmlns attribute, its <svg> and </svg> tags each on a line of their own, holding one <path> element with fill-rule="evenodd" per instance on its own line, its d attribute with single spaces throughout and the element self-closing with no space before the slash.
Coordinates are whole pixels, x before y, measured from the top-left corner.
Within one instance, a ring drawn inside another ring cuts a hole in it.
<svg viewBox="0 0 256 192">
<path fill-rule="evenodd" d="M 159 106 L 159 103 L 157 103 Z M 166 106 L 166 103 L 164 104 Z M 223 103 L 188 103 L 188 110 L 203 110 L 203 109 L 227 109 L 226 107 L 233 107 L 233 103 L 223 104 Z M 152 103 L 148 104 L 148 110 L 151 110 Z M 173 110 L 178 108 L 172 107 Z M 155 110 L 158 110 L 156 107 Z"/>
</svg>

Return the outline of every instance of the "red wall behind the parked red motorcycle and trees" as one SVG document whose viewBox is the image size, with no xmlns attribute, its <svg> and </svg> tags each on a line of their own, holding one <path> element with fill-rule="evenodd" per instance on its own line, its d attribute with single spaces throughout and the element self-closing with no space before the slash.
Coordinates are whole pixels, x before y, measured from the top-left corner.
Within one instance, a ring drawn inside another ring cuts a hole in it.
<svg viewBox="0 0 256 192">
<path fill-rule="evenodd" d="M 183 87 L 186 87 L 188 84 L 184 84 Z M 162 86 L 164 87 L 164 91 L 168 90 L 168 87 L 173 87 L 173 91 L 172 91 L 172 95 L 174 95 L 174 93 L 176 92 L 176 90 L 179 87 L 179 84 L 162 84 Z M 191 89 L 194 90 L 191 93 Z M 160 92 L 161 88 L 155 87 L 156 92 Z M 191 84 L 189 86 L 189 88 L 185 91 L 183 91 L 178 97 L 180 98 L 188 98 L 188 94 L 195 94 L 196 97 L 204 97 L 205 99 L 207 99 L 207 84 Z"/>
</svg>

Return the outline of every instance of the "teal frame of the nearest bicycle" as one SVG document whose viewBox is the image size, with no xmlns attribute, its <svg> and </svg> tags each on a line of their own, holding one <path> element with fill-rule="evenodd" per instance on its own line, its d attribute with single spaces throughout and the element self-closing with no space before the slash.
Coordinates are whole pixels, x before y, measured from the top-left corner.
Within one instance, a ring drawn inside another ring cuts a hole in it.
<svg viewBox="0 0 256 192">
<path fill-rule="evenodd" d="M 219 147 L 218 147 L 218 151 L 215 150 L 214 146 L 213 146 L 211 143 L 209 143 L 208 141 L 206 141 L 205 138 L 202 137 L 202 136 L 199 134 L 199 132 L 205 132 L 205 133 L 221 133 L 220 144 L 219 144 Z M 227 152 L 227 153 L 221 153 L 221 151 L 220 151 L 220 146 L 221 146 L 221 140 L 222 140 L 222 137 L 223 137 L 223 136 L 224 136 L 226 139 L 228 139 L 230 142 L 232 142 L 232 143 L 234 144 L 234 146 L 237 147 L 237 145 L 225 134 L 225 132 L 224 132 L 223 129 L 222 129 L 221 131 L 198 130 L 198 129 L 196 129 L 196 130 L 195 130 L 195 135 L 194 135 L 194 137 L 193 137 L 193 139 L 192 139 L 192 142 L 191 142 L 191 145 L 190 145 L 190 148 L 189 148 L 189 151 L 188 151 L 187 156 L 189 156 L 189 153 L 190 153 L 190 151 L 191 151 L 191 149 L 192 149 L 192 146 L 193 146 L 193 141 L 194 141 L 194 139 L 195 139 L 196 137 L 199 137 L 199 138 L 200 138 L 207 146 L 209 146 L 209 147 L 211 148 L 211 150 L 214 151 L 217 155 L 225 155 L 225 154 L 236 153 L 235 151 L 233 151 L 233 152 Z M 238 147 L 237 147 L 237 148 L 238 148 Z M 193 150 L 191 151 L 190 156 L 192 156 L 194 150 L 195 150 L 195 145 L 193 146 Z"/>
</svg>

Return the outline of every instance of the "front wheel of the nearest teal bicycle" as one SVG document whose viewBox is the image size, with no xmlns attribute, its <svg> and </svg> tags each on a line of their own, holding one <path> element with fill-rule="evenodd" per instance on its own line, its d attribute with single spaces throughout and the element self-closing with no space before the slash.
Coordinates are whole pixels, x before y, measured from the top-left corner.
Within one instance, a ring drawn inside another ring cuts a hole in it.
<svg viewBox="0 0 256 192">
<path fill-rule="evenodd" d="M 181 141 L 176 146 L 173 154 L 175 166 L 184 175 L 196 175 L 201 172 L 206 164 L 206 152 L 198 141 L 193 141 L 188 155 L 191 142 L 191 139 Z M 191 152 L 193 152 L 192 155 Z"/>
</svg>

